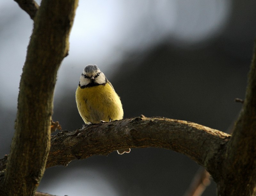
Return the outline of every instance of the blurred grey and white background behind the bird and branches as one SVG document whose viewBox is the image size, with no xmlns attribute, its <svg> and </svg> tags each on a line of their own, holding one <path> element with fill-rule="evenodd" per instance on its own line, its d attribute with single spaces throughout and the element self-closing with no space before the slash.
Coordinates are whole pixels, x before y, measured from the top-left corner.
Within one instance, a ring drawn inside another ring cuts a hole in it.
<svg viewBox="0 0 256 196">
<path fill-rule="evenodd" d="M 38 2 L 40 4 L 40 1 Z M 256 32 L 254 0 L 80 0 L 58 72 L 53 120 L 80 128 L 75 91 L 97 64 L 124 117 L 164 116 L 227 131 L 241 109 Z M 0 1 L 0 157 L 9 154 L 33 21 Z M 56 195 L 183 195 L 199 165 L 165 149 L 93 156 L 46 170 L 38 191 Z M 216 184 L 204 196 L 216 194 Z"/>
</svg>

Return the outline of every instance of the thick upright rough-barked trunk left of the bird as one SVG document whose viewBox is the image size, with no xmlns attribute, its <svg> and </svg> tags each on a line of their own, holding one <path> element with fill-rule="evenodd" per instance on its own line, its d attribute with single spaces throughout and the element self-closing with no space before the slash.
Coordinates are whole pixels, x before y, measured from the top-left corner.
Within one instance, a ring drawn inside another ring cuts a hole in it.
<svg viewBox="0 0 256 196">
<path fill-rule="evenodd" d="M 53 91 L 60 63 L 68 53 L 76 7 L 76 0 L 43 0 L 36 13 L 0 195 L 33 195 L 44 174 L 50 150 Z"/>
</svg>

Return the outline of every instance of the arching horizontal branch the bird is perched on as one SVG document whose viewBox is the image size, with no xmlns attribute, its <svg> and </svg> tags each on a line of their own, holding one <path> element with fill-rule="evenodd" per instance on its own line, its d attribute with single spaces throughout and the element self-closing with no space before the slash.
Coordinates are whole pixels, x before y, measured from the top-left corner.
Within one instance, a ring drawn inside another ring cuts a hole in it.
<svg viewBox="0 0 256 196">
<path fill-rule="evenodd" d="M 122 148 L 166 148 L 186 154 L 202 166 L 216 156 L 230 135 L 187 121 L 144 116 L 93 124 L 52 136 L 46 167 L 74 159 L 107 155 Z"/>
</svg>

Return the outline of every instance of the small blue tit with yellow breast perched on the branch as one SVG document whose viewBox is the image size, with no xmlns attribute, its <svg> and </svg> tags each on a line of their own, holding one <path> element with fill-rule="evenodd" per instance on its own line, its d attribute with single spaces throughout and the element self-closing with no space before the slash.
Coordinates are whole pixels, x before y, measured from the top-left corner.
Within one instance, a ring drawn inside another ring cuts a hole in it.
<svg viewBox="0 0 256 196">
<path fill-rule="evenodd" d="M 124 116 L 120 97 L 97 65 L 87 65 L 76 89 L 76 106 L 85 124 L 121 120 Z M 117 150 L 118 154 L 131 149 Z"/>
</svg>

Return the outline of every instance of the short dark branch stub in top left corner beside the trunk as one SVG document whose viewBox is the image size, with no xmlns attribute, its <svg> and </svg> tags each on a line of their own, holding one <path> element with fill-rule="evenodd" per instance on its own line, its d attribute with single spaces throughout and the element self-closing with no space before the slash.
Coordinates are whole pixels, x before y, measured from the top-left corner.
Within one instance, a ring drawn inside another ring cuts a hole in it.
<svg viewBox="0 0 256 196">
<path fill-rule="evenodd" d="M 36 12 L 39 9 L 39 5 L 34 0 L 14 0 L 16 1 L 20 8 L 28 13 L 30 18 L 34 20 Z"/>
</svg>

